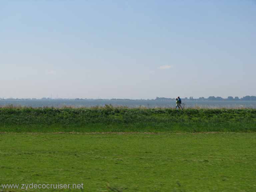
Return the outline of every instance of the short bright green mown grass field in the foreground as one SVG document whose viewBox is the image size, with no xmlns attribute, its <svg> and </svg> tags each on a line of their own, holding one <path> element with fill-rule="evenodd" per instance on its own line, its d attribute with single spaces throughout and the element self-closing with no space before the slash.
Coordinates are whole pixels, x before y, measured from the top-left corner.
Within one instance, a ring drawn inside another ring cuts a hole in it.
<svg viewBox="0 0 256 192">
<path fill-rule="evenodd" d="M 0 134 L 0 191 L 255 192 L 255 146 L 256 133 Z"/>
</svg>

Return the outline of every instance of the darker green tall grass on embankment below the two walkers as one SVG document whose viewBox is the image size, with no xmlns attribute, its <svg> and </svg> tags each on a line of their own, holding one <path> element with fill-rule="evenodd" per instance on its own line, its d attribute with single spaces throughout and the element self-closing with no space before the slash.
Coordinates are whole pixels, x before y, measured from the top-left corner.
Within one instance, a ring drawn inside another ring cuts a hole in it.
<svg viewBox="0 0 256 192">
<path fill-rule="evenodd" d="M 0 132 L 256 132 L 256 109 L 0 108 Z"/>
</svg>

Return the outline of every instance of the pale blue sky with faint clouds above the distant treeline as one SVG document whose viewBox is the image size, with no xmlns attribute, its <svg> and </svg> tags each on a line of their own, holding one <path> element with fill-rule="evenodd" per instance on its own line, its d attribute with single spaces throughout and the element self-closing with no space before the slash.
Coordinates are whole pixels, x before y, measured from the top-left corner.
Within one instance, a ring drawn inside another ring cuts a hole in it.
<svg viewBox="0 0 256 192">
<path fill-rule="evenodd" d="M 256 95 L 256 0 L 0 1 L 0 98 Z"/>
</svg>

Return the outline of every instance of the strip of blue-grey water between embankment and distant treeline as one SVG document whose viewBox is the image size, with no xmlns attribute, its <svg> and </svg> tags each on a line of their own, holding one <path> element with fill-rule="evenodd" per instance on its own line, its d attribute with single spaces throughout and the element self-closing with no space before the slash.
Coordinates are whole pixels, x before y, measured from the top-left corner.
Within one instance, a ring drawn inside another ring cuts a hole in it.
<svg viewBox="0 0 256 192">
<path fill-rule="evenodd" d="M 167 107 L 175 108 L 176 101 L 157 100 L 0 100 L 0 106 L 26 106 L 26 107 L 92 107 L 92 106 L 127 106 L 127 107 Z M 185 108 L 254 108 L 256 101 L 184 101 Z"/>
</svg>

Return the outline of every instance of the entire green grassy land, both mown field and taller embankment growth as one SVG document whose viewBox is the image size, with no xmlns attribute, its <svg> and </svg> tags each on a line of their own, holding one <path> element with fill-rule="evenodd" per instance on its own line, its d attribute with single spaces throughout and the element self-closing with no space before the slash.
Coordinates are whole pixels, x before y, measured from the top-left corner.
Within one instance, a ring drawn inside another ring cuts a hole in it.
<svg viewBox="0 0 256 192">
<path fill-rule="evenodd" d="M 3 107 L 0 132 L 0 191 L 256 191 L 255 109 Z"/>
</svg>

